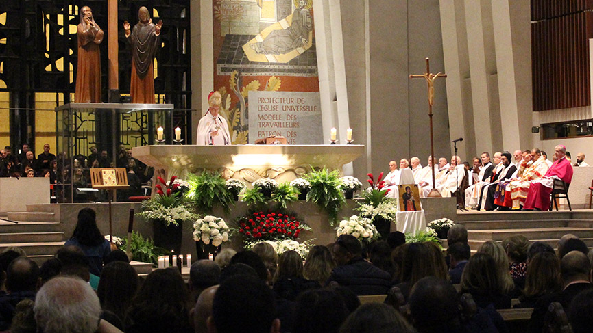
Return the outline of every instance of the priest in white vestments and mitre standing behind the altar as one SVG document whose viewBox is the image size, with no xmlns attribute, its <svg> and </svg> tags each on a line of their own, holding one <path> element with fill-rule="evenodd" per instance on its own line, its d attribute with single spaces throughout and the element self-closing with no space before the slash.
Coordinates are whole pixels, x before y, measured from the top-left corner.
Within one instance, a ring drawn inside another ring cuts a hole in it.
<svg viewBox="0 0 593 333">
<path fill-rule="evenodd" d="M 222 96 L 219 92 L 210 92 L 208 95 L 208 111 L 197 125 L 198 146 L 223 146 L 230 144 L 228 124 L 223 116 L 219 115 Z"/>
</svg>

